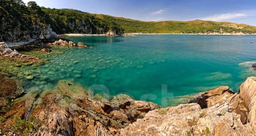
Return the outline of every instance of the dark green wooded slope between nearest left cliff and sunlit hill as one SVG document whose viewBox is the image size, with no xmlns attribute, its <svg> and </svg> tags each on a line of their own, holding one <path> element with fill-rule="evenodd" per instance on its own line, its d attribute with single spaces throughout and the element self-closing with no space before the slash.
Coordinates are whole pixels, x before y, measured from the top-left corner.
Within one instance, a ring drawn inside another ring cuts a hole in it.
<svg viewBox="0 0 256 136">
<path fill-rule="evenodd" d="M 109 30 L 122 31 L 115 22 L 96 18 L 95 14 L 73 9 L 50 9 L 42 7 L 52 20 L 51 27 L 58 34 L 89 33 L 104 34 Z"/>
</svg>

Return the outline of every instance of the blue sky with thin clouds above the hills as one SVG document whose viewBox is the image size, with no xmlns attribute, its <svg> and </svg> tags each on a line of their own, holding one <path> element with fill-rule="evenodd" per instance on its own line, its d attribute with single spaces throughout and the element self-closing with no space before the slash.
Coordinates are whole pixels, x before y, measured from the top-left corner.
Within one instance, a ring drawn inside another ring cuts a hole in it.
<svg viewBox="0 0 256 136">
<path fill-rule="evenodd" d="M 31 0 L 23 0 L 25 3 Z M 256 26 L 256 0 L 34 0 L 39 6 L 73 8 L 144 21 L 212 20 Z"/>
</svg>

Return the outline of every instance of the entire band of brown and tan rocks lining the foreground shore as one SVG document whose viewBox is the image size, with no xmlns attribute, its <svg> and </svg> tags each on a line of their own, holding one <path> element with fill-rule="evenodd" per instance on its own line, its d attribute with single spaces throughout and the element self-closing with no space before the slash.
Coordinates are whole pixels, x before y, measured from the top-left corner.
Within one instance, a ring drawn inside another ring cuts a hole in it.
<svg viewBox="0 0 256 136">
<path fill-rule="evenodd" d="M 38 99 L 37 97 L 40 96 Z M 15 134 L 35 136 L 252 136 L 256 134 L 256 77 L 234 93 L 221 86 L 200 93 L 190 104 L 160 108 L 152 102 L 121 94 L 107 100 L 84 90 L 73 80 L 59 81 L 49 91 L 34 90 L 4 114 L 2 132 L 17 118 L 33 121 Z M 31 120 L 31 119 L 29 119 Z M 32 123 L 31 123 L 32 122 Z M 38 123 L 41 122 L 41 123 Z M 32 124 L 32 125 L 31 125 Z"/>
</svg>

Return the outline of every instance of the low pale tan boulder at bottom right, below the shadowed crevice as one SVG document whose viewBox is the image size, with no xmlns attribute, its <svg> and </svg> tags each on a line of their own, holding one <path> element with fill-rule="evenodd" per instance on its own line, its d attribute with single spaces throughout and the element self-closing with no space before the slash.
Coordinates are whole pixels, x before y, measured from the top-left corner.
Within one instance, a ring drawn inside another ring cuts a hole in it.
<svg viewBox="0 0 256 136">
<path fill-rule="evenodd" d="M 252 132 L 230 111 L 228 103 L 201 109 L 180 104 L 149 111 L 143 119 L 121 129 L 121 136 L 250 136 Z"/>
</svg>

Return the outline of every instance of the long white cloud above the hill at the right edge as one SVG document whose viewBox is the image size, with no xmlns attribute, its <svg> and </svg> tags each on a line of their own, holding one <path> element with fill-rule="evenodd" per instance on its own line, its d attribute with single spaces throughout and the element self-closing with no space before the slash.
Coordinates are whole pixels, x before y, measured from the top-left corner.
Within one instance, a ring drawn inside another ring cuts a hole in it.
<svg viewBox="0 0 256 136">
<path fill-rule="evenodd" d="M 200 20 L 224 21 L 224 20 L 242 18 L 242 17 L 246 17 L 246 16 L 255 16 L 255 13 L 256 13 L 255 10 L 243 10 L 240 12 L 216 14 L 213 16 L 207 16 L 204 18 L 200 18 Z"/>
</svg>

